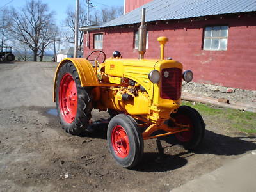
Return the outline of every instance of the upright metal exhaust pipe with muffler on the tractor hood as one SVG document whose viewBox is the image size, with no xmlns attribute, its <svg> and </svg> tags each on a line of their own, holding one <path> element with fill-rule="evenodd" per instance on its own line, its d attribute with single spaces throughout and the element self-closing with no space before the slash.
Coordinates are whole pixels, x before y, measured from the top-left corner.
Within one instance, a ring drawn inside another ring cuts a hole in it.
<svg viewBox="0 0 256 192">
<path fill-rule="evenodd" d="M 139 52 L 139 59 L 144 58 L 144 54 L 146 52 L 146 40 L 147 40 L 147 28 L 145 26 L 145 12 L 146 9 L 142 8 L 141 10 L 141 24 L 139 28 L 139 46 L 138 46 L 138 52 Z"/>
</svg>

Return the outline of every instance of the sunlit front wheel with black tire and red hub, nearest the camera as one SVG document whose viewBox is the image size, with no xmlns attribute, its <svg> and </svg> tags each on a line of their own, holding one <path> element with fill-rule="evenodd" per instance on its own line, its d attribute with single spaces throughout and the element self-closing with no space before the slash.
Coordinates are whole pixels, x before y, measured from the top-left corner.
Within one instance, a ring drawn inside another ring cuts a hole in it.
<svg viewBox="0 0 256 192">
<path fill-rule="evenodd" d="M 124 168 L 140 163 L 144 143 L 138 124 L 131 116 L 119 114 L 110 120 L 108 147 L 116 163 Z"/>
</svg>

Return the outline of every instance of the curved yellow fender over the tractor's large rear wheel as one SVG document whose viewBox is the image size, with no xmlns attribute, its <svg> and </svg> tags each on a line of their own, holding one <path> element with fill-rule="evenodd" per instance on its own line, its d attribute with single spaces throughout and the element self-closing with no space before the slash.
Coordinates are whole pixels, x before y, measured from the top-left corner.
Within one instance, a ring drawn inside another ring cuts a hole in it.
<svg viewBox="0 0 256 192">
<path fill-rule="evenodd" d="M 92 64 L 88 60 L 86 60 L 84 58 L 65 58 L 64 60 L 62 60 L 59 63 L 59 65 L 56 69 L 56 72 L 55 72 L 54 85 L 53 85 L 53 100 L 54 100 L 54 102 L 56 102 L 55 88 L 56 88 L 56 80 L 57 80 L 58 72 L 63 64 L 68 63 L 70 61 L 76 67 L 82 87 L 97 86 L 99 84 L 99 81 L 95 74 L 95 70 L 93 69 Z"/>
</svg>

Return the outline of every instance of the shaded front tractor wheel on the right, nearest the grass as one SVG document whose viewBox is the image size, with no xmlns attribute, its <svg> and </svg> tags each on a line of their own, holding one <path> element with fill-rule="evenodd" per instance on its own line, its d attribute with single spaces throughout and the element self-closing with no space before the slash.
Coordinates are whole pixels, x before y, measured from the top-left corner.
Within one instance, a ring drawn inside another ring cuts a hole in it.
<svg viewBox="0 0 256 192">
<path fill-rule="evenodd" d="M 190 126 L 189 131 L 175 134 L 177 142 L 186 150 L 198 148 L 203 141 L 205 132 L 204 120 L 200 113 L 189 106 L 180 106 L 177 113 L 172 113 L 171 117 L 179 124 L 189 124 Z"/>
</svg>

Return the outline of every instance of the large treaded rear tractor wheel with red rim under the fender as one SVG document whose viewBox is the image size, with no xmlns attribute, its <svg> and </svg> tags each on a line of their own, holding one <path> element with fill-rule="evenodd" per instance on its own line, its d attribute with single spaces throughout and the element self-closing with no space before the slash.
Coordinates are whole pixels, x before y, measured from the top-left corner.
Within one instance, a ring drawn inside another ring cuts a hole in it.
<svg viewBox="0 0 256 192">
<path fill-rule="evenodd" d="M 56 105 L 63 129 L 81 134 L 92 118 L 92 100 L 81 87 L 76 67 L 68 62 L 61 66 L 56 81 Z"/>
</svg>

